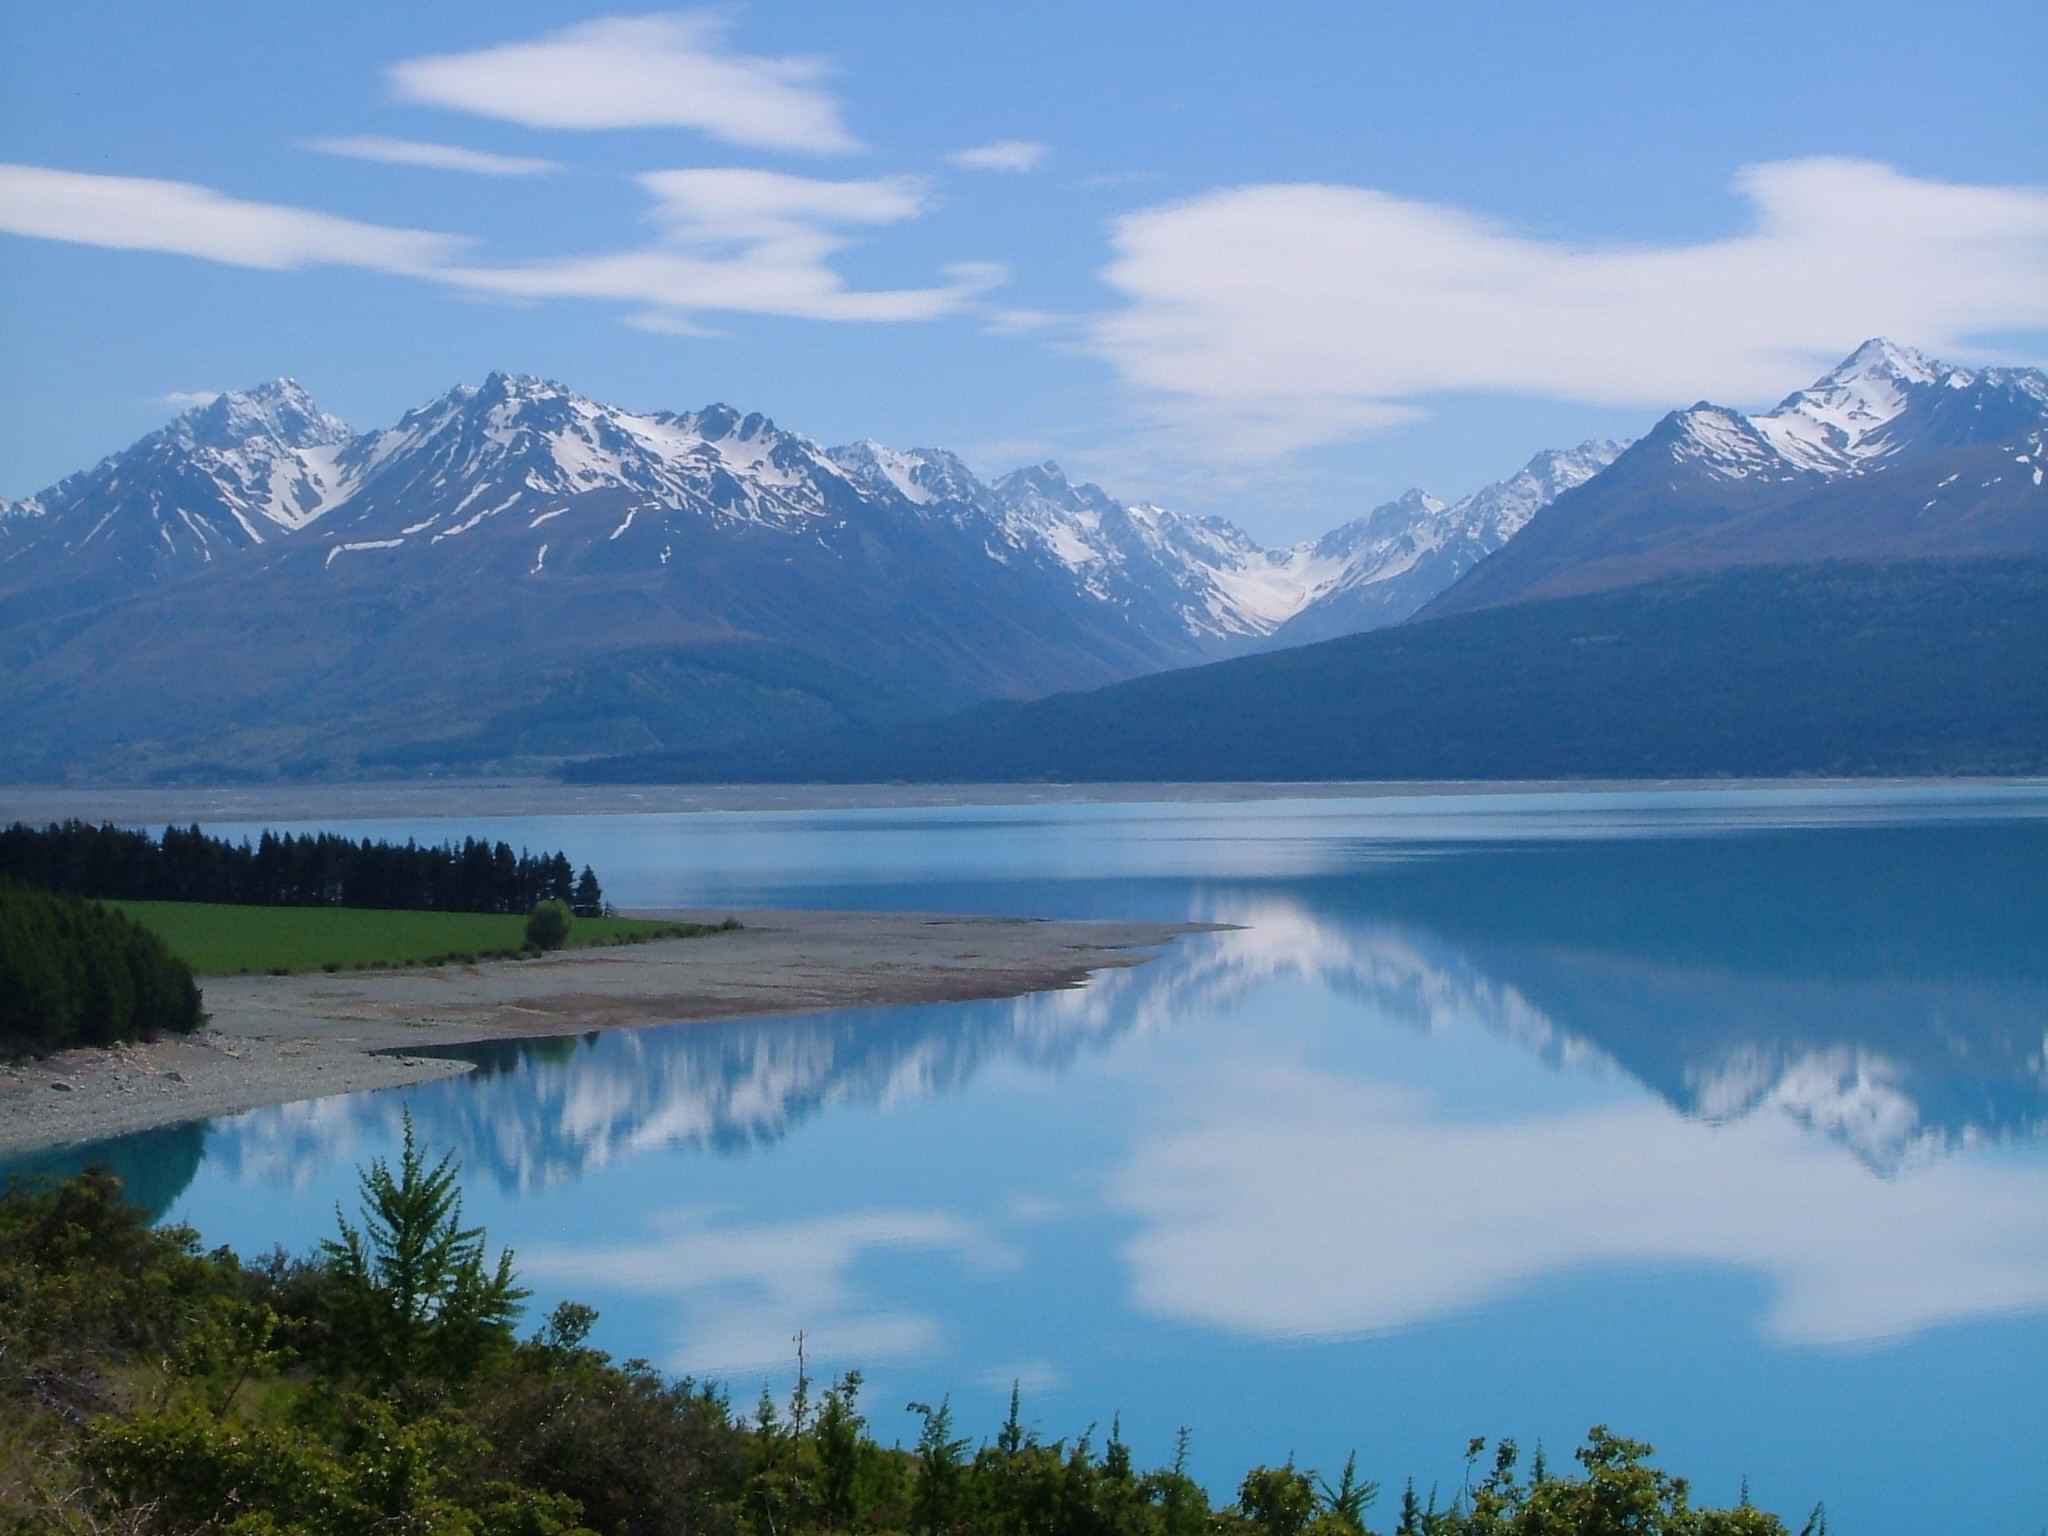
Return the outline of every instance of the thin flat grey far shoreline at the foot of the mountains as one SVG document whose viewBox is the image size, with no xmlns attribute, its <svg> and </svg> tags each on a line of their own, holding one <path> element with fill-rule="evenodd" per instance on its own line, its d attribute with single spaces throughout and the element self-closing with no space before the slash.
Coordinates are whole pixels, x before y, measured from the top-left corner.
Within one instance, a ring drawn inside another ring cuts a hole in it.
<svg viewBox="0 0 2048 1536">
<path fill-rule="evenodd" d="M 707 811 L 862 811 L 946 805 L 1145 805 L 1180 801 L 1397 799 L 1417 795 L 1636 795 L 1651 791 L 2038 788 L 2015 778 L 1458 778 L 1274 782 L 995 782 L 995 784 L 561 784 L 553 778 L 426 778 L 342 784 L 184 788 L 0 784 L 0 823 L 119 821 L 387 821 L 506 815 L 678 815 Z"/>
</svg>

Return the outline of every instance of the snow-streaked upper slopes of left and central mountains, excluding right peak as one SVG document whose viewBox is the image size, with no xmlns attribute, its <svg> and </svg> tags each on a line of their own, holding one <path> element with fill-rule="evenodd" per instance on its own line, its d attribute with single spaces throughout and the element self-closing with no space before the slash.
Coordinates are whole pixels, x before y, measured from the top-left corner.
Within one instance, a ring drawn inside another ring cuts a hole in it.
<svg viewBox="0 0 2048 1536">
<path fill-rule="evenodd" d="M 766 530 L 846 559 L 887 526 L 1075 604 L 1083 627 L 1130 651 L 1118 670 L 1145 670 L 1288 627 L 1284 641 L 1405 618 L 1567 483 L 1542 463 L 1456 508 L 1413 494 L 1319 541 L 1266 549 L 1225 518 L 1118 502 L 1055 463 L 983 481 L 942 449 L 827 451 L 729 406 L 631 412 L 494 373 L 354 434 L 279 379 L 8 504 L 0 604 L 14 618 L 76 612 L 250 549 L 264 563 L 317 559 L 334 580 L 412 578 L 422 557 L 547 580 L 586 532 L 606 549 L 580 561 L 625 573 L 666 567 L 684 535 Z"/>
</svg>

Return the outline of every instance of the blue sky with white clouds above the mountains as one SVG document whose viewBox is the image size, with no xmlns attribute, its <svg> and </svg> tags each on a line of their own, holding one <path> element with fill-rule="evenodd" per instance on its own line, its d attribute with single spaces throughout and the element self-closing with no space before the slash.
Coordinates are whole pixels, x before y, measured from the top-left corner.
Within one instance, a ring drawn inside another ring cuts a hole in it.
<svg viewBox="0 0 2048 1536">
<path fill-rule="evenodd" d="M 0 492 L 502 367 L 1292 539 L 1870 334 L 2048 356 L 2048 8 L 1556 12 L 16 10 Z"/>
</svg>

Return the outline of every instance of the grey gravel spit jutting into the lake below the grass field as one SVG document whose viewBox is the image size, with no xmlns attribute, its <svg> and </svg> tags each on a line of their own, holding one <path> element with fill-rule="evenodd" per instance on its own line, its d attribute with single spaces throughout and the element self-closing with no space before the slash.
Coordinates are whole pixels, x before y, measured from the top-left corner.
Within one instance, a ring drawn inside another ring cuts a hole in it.
<svg viewBox="0 0 2048 1536">
<path fill-rule="evenodd" d="M 717 922 L 725 911 L 643 913 Z M 432 971 L 207 977 L 209 1028 L 154 1044 L 0 1063 L 0 1155 L 268 1104 L 453 1077 L 416 1057 L 477 1040 L 1018 997 L 1143 965 L 1212 924 L 743 911 L 702 938 Z"/>
</svg>

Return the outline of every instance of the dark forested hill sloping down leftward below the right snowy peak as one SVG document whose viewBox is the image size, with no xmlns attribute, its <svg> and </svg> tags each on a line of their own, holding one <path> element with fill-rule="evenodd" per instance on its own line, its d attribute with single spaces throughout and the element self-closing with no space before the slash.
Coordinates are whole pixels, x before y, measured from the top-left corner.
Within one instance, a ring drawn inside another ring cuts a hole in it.
<svg viewBox="0 0 2048 1536">
<path fill-rule="evenodd" d="M 584 782 L 2048 770 L 2048 561 L 1743 567 Z"/>
</svg>

